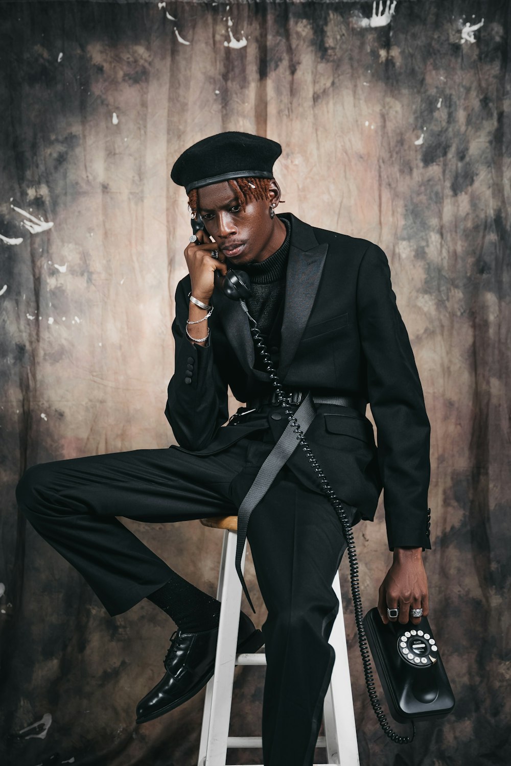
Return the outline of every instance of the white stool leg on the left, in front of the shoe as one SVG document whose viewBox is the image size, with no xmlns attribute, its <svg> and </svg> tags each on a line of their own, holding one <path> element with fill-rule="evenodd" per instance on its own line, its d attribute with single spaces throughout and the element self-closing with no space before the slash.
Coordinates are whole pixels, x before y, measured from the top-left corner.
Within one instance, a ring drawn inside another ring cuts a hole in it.
<svg viewBox="0 0 511 766">
<path fill-rule="evenodd" d="M 225 766 L 231 721 L 232 687 L 240 624 L 241 582 L 234 567 L 236 532 L 225 530 L 217 598 L 221 601 L 215 673 L 206 687 L 198 766 Z M 247 541 L 241 556 L 244 571 Z"/>
</svg>

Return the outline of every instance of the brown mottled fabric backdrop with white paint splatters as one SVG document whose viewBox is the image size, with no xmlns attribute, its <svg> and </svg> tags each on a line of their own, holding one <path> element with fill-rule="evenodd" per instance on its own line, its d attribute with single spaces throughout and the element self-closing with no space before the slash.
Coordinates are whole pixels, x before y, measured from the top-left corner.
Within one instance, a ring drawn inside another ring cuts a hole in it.
<svg viewBox="0 0 511 766">
<path fill-rule="evenodd" d="M 204 692 L 134 724 L 172 622 L 147 601 L 108 617 L 18 518 L 14 488 L 34 463 L 172 444 L 163 411 L 188 208 L 169 171 L 230 129 L 283 145 L 282 211 L 385 250 L 431 419 L 424 559 L 457 707 L 418 725 L 411 746 L 385 738 L 344 561 L 361 763 L 511 761 L 509 7 L 0 3 L 2 762 L 196 762 Z M 215 594 L 221 532 L 126 523 Z M 369 609 L 391 561 L 382 508 L 355 538 Z M 250 555 L 247 574 L 255 597 Z M 260 627 L 260 597 L 255 607 Z M 257 735 L 264 671 L 236 673 L 231 734 Z"/>
</svg>

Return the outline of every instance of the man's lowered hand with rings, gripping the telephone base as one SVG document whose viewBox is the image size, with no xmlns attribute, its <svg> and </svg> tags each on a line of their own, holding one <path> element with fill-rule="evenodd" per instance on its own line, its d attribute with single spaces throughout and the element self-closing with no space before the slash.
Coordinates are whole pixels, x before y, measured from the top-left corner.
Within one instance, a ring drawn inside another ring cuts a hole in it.
<svg viewBox="0 0 511 766">
<path fill-rule="evenodd" d="M 387 607 L 399 607 L 398 617 L 388 617 Z M 378 612 L 385 625 L 390 620 L 418 625 L 421 617 L 411 617 L 411 609 L 420 609 L 427 617 L 427 575 L 422 548 L 395 548 L 394 561 L 378 590 Z"/>
</svg>

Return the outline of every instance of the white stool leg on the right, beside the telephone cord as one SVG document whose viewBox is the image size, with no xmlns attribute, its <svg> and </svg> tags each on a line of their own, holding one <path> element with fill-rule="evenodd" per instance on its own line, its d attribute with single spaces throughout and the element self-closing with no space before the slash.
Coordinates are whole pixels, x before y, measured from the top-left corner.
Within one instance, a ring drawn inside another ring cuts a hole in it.
<svg viewBox="0 0 511 766">
<path fill-rule="evenodd" d="M 355 713 L 351 678 L 349 676 L 348 649 L 342 614 L 339 575 L 333 578 L 332 588 L 339 599 L 339 612 L 330 633 L 329 643 L 336 653 L 332 678 L 323 705 L 326 755 L 329 764 L 359 766 L 359 745 L 355 728 Z M 341 750 L 342 748 L 342 750 Z M 342 761 L 340 753 L 342 751 Z"/>
</svg>

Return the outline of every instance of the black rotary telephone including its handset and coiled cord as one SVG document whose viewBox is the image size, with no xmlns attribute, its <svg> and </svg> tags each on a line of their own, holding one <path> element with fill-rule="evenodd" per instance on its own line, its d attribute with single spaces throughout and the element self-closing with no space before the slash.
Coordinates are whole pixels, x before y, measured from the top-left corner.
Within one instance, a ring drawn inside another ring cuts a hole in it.
<svg viewBox="0 0 511 766">
<path fill-rule="evenodd" d="M 199 229 L 203 229 L 208 234 L 204 222 L 197 214 L 196 219 L 192 218 L 192 230 L 195 234 Z M 447 679 L 433 630 L 431 630 L 426 617 L 421 617 L 421 622 L 418 624 L 408 622 L 403 625 L 397 621 L 391 622 L 389 620 L 388 624 L 385 625 L 378 614 L 377 607 L 373 607 L 365 617 L 362 617 L 359 565 L 352 528 L 346 511 L 342 507 L 342 502 L 336 497 L 326 480 L 326 476 L 313 457 L 313 453 L 303 437 L 303 431 L 296 418 L 293 417 L 293 411 L 287 409 L 283 402 L 285 394 L 280 381 L 278 381 L 277 371 L 267 353 L 257 322 L 248 313 L 247 304 L 243 300 L 252 294 L 250 277 L 242 270 L 228 269 L 227 273 L 222 274 L 217 269 L 214 278 L 215 286 L 218 286 L 231 300 L 239 300 L 248 319 L 253 322 L 250 329 L 254 345 L 259 349 L 266 371 L 272 374 L 271 381 L 277 390 L 279 401 L 295 433 L 298 434 L 296 438 L 303 447 L 308 460 L 313 464 L 322 484 L 322 491 L 339 517 L 348 544 L 349 577 L 355 607 L 355 623 L 359 634 L 359 647 L 369 700 L 376 718 L 388 738 L 398 744 L 407 745 L 414 739 L 414 720 L 425 721 L 444 718 L 454 709 L 454 694 L 450 688 L 449 679 Z M 371 660 L 367 649 L 368 643 L 391 715 L 398 722 L 405 723 L 408 720 L 411 722 L 411 737 L 398 735 L 392 731 L 388 724 L 375 689 Z"/>
</svg>

